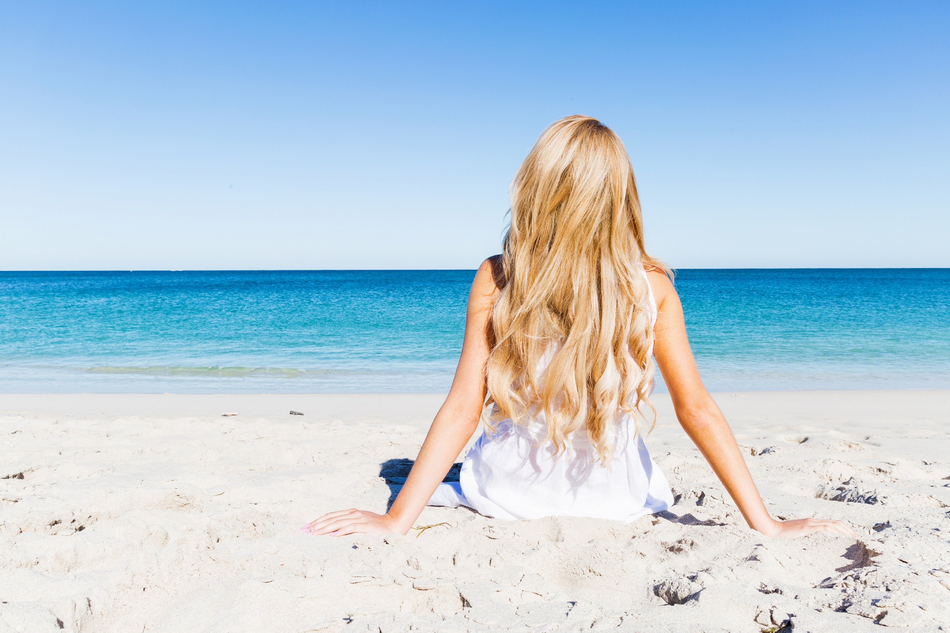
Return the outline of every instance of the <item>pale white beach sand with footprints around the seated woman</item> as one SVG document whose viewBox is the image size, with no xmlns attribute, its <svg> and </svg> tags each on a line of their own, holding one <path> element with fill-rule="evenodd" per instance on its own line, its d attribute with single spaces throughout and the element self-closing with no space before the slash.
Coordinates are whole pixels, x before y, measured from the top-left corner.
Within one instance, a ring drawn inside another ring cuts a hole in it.
<svg viewBox="0 0 950 633">
<path fill-rule="evenodd" d="M 0 395 L 0 631 L 950 629 L 950 392 L 716 399 L 774 514 L 860 539 L 746 528 L 665 396 L 662 517 L 331 538 L 298 528 L 385 509 L 441 396 Z"/>
</svg>

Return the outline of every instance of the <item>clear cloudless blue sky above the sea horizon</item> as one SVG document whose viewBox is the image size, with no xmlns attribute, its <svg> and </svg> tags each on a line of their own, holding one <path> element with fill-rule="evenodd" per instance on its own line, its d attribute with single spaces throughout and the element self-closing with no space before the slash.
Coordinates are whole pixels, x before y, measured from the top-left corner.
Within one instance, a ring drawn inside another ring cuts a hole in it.
<svg viewBox="0 0 950 633">
<path fill-rule="evenodd" d="M 0 4 L 0 269 L 473 268 L 545 125 L 679 268 L 950 266 L 950 3 Z"/>
</svg>

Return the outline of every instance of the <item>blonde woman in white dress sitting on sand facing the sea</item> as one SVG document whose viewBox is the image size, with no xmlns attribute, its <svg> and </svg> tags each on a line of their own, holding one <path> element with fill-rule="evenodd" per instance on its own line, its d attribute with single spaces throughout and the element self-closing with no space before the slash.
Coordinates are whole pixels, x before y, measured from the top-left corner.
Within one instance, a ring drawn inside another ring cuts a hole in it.
<svg viewBox="0 0 950 633">
<path fill-rule="evenodd" d="M 390 511 L 330 512 L 303 529 L 405 534 L 427 504 L 626 522 L 669 508 L 669 484 L 643 443 L 656 358 L 680 424 L 750 528 L 854 536 L 838 521 L 769 516 L 700 380 L 670 279 L 644 250 L 617 135 L 584 116 L 548 127 L 512 182 L 504 253 L 475 275 L 455 379 Z M 483 418 L 461 481 L 441 484 Z"/>
</svg>

